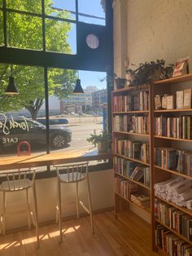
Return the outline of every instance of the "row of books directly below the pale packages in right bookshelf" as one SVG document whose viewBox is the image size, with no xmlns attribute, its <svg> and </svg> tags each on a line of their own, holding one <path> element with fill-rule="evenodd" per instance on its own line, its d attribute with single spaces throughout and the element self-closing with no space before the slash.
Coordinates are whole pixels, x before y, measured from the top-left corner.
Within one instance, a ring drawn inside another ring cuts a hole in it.
<svg viewBox="0 0 192 256">
<path fill-rule="evenodd" d="M 155 135 L 192 139 L 192 117 L 155 117 Z"/>
</svg>

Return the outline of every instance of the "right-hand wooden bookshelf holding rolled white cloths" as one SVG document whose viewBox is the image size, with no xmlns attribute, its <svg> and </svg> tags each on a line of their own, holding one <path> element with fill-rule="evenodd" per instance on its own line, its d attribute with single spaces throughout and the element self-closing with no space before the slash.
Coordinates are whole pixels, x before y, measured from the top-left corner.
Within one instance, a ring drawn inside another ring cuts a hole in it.
<svg viewBox="0 0 192 256">
<path fill-rule="evenodd" d="M 189 83 L 187 83 L 187 85 L 186 85 L 186 83 L 184 84 L 183 82 L 189 82 Z M 155 109 L 155 95 L 158 95 L 158 94 L 162 95 L 162 91 L 163 91 L 163 94 L 174 95 L 174 98 L 176 99 L 176 91 L 177 90 L 185 90 L 185 88 L 192 89 L 192 74 L 187 74 L 187 75 L 180 76 L 180 77 L 172 77 L 172 78 L 165 79 L 162 81 L 153 82 L 153 84 L 151 85 L 151 100 L 153 102 L 153 104 L 152 104 L 153 111 L 152 111 L 151 120 L 155 120 L 155 117 L 159 117 L 159 114 L 162 115 L 163 117 L 180 117 L 181 115 L 182 116 L 189 116 L 189 115 L 191 116 L 192 108 Z M 154 123 L 155 123 L 155 121 L 154 121 Z M 189 149 L 190 143 L 192 143 L 192 139 L 178 139 L 178 138 L 173 138 L 173 137 L 155 135 L 155 126 L 152 127 L 151 132 L 153 134 L 152 135 L 152 144 L 153 144 L 154 148 L 164 148 L 164 150 L 166 150 L 166 148 L 176 148 L 177 150 L 181 150 L 181 151 L 187 151 L 185 148 L 188 148 L 188 152 L 189 151 L 192 152 L 192 150 Z M 181 132 L 183 132 L 183 130 L 181 130 Z M 192 180 L 192 176 L 180 173 L 178 170 L 168 170 L 166 168 L 162 168 L 161 166 L 155 165 L 154 150 L 151 151 L 151 157 L 153 158 L 151 170 L 153 170 L 152 175 L 154 177 L 154 179 L 151 183 L 151 188 L 154 188 L 155 183 L 159 183 L 166 179 L 170 179 L 171 177 L 181 176 L 182 178 Z M 160 158 L 160 159 L 162 161 L 162 158 Z M 166 159 L 166 161 L 167 161 L 167 159 Z M 162 202 L 166 203 L 167 205 L 171 205 L 176 210 L 181 210 L 181 212 L 188 214 L 189 216 L 192 216 L 192 210 L 189 210 L 186 207 L 178 206 L 175 203 L 173 203 L 172 201 L 166 201 L 160 196 L 155 196 L 154 189 L 151 189 L 151 190 L 153 190 L 153 193 L 152 193 L 153 196 L 151 197 L 151 203 L 153 205 L 155 204 L 155 198 L 158 198 L 159 201 L 162 201 Z M 151 215 L 153 218 L 152 222 L 155 223 L 154 227 L 152 227 L 152 236 L 155 237 L 155 227 L 156 227 L 156 224 L 158 223 L 158 224 L 168 228 L 168 230 L 170 230 L 174 235 L 181 238 L 183 241 L 186 241 L 190 245 L 192 245 L 192 241 L 189 241 L 185 236 L 182 236 L 177 231 L 168 227 L 168 225 L 162 223 L 161 221 L 159 221 L 159 219 L 155 219 L 154 210 L 151 211 Z M 159 246 L 155 245 L 155 239 L 153 239 L 152 243 L 153 243 L 153 248 L 157 249 L 159 254 L 168 255 L 164 252 L 164 250 L 159 249 Z"/>
</svg>

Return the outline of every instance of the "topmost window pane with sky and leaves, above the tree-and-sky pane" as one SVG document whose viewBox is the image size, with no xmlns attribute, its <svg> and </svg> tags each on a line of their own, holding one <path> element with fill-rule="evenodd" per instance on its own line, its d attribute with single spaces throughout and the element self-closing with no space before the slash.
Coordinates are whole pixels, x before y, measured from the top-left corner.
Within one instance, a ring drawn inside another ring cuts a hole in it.
<svg viewBox="0 0 192 256">
<path fill-rule="evenodd" d="M 58 16 L 64 19 L 76 20 L 75 0 L 45 0 L 46 15 Z"/>
</svg>

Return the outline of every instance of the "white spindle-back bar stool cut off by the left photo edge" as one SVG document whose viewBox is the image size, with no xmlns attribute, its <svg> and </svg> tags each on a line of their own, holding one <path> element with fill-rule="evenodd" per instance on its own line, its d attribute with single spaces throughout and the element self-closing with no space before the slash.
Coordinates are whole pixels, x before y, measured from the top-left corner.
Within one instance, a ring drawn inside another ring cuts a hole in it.
<svg viewBox="0 0 192 256">
<path fill-rule="evenodd" d="M 27 209 L 19 210 L 18 213 L 23 213 L 27 211 L 28 214 L 28 229 L 31 228 L 31 219 L 36 227 L 37 236 L 37 247 L 39 247 L 39 235 L 38 235 L 38 214 L 37 214 L 37 195 L 35 187 L 35 168 L 29 168 L 25 170 L 4 172 L 0 174 L 2 178 L 2 183 L 0 185 L 0 192 L 2 192 L 2 215 L 1 215 L 1 233 L 5 235 L 6 232 L 6 214 L 7 213 L 7 193 L 17 193 L 20 191 L 26 192 Z M 33 189 L 33 201 L 34 201 L 34 211 L 35 216 L 33 216 L 33 211 L 31 210 L 31 205 L 29 201 L 29 188 Z"/>
</svg>

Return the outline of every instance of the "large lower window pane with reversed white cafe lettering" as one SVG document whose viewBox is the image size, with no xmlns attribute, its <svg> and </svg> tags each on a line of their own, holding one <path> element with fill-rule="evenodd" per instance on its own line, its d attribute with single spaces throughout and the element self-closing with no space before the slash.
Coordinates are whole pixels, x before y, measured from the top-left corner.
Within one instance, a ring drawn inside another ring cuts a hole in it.
<svg viewBox="0 0 192 256">
<path fill-rule="evenodd" d="M 19 95 L 4 94 L 10 73 L 15 78 Z M 37 122 L 37 117 L 44 116 L 41 110 L 45 98 L 43 68 L 0 65 L 0 152 L 17 156 L 20 141 L 31 145 L 32 153 L 46 152 L 46 127 Z M 7 122 L 6 122 L 7 119 Z M 26 150 L 26 145 L 21 151 Z"/>
</svg>

